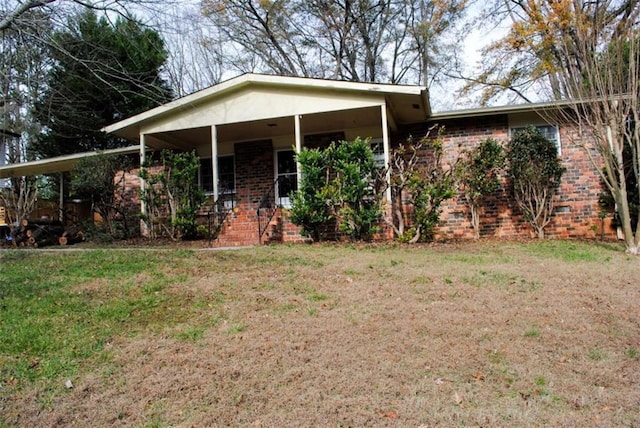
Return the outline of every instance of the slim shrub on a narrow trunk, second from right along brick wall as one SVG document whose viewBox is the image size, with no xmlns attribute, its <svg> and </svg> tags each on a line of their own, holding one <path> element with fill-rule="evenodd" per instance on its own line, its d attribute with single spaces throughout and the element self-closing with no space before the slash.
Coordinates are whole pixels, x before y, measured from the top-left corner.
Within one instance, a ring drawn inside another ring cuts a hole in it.
<svg viewBox="0 0 640 428">
<path fill-rule="evenodd" d="M 486 138 L 464 151 L 456 167 L 458 185 L 469 205 L 475 239 L 480 238 L 480 211 L 484 198 L 500 187 L 504 150 L 493 138 Z"/>
</svg>

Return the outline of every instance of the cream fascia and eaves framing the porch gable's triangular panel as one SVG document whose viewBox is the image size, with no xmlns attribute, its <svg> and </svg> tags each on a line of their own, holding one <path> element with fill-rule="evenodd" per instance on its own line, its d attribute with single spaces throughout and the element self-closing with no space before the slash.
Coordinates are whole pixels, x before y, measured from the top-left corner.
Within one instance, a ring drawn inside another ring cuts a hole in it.
<svg viewBox="0 0 640 428">
<path fill-rule="evenodd" d="M 310 99 L 314 97 L 331 96 L 336 100 L 342 99 L 362 99 L 377 98 L 386 104 L 389 114 L 393 120 L 398 123 L 417 123 L 425 121 L 431 114 L 428 92 L 425 87 L 410 85 L 390 85 L 378 83 L 361 83 L 361 82 L 344 82 L 338 80 L 312 79 L 303 77 L 274 76 L 263 74 L 243 74 L 201 91 L 187 95 L 175 101 L 161 105 L 154 109 L 145 111 L 138 115 L 124 119 L 103 128 L 106 133 L 112 133 L 127 138 L 130 141 L 136 141 L 139 133 L 146 129 L 150 124 L 159 121 L 170 120 L 171 117 L 184 115 L 187 112 L 196 112 L 205 105 L 215 103 L 217 100 L 233 97 L 235 94 L 242 94 L 243 90 L 255 90 L 259 95 L 264 91 L 281 91 L 287 94 L 297 94 Z M 265 103 L 266 109 L 273 108 L 269 105 L 272 101 L 268 97 L 258 96 L 254 103 Z M 338 102 L 336 103 L 338 104 Z M 223 109 L 221 109 L 223 110 Z M 281 112 L 274 116 L 282 116 Z M 211 113 L 209 110 L 208 113 Z M 303 114 L 305 112 L 296 112 L 295 114 Z M 306 113 L 309 113 L 307 111 Z M 320 113 L 318 111 L 317 113 Z M 238 123 L 246 121 L 247 118 L 234 120 L 233 117 L 214 117 L 210 115 L 211 123 L 209 125 L 225 125 L 230 123 Z M 256 120 L 267 119 L 265 117 L 256 117 Z M 199 124 L 199 126 L 202 124 Z M 176 124 L 175 129 L 179 129 L 183 125 Z M 165 129 L 166 130 L 166 129 Z"/>
</svg>

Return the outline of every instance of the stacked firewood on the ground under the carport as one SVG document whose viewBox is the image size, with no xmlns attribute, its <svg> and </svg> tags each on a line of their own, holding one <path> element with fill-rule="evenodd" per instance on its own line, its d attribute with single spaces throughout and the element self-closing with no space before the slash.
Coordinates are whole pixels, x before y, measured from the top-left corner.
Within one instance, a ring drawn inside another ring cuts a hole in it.
<svg viewBox="0 0 640 428">
<path fill-rule="evenodd" d="M 48 245 L 71 245 L 84 240 L 82 230 L 75 225 L 67 226 L 58 220 L 22 220 L 14 236 L 19 247 L 40 248 Z"/>
</svg>

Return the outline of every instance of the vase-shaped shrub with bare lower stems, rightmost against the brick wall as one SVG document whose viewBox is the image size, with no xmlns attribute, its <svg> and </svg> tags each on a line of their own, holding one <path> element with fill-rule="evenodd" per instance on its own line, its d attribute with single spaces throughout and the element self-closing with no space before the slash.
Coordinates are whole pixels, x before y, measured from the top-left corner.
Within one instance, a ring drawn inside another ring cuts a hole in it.
<svg viewBox="0 0 640 428">
<path fill-rule="evenodd" d="M 509 141 L 507 161 L 516 204 L 537 237 L 542 239 L 565 171 L 558 149 L 539 129 L 529 126 Z"/>
</svg>

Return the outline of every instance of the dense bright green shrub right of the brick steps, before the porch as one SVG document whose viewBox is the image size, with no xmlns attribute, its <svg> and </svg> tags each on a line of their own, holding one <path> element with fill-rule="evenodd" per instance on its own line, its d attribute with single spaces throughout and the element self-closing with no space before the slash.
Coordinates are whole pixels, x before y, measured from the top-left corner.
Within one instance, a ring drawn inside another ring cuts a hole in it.
<svg viewBox="0 0 640 428">
<path fill-rule="evenodd" d="M 381 177 L 368 140 L 331 143 L 303 149 L 298 155 L 302 181 L 293 197 L 291 218 L 313 239 L 336 219 L 340 232 L 368 240 L 381 219 Z"/>
</svg>

